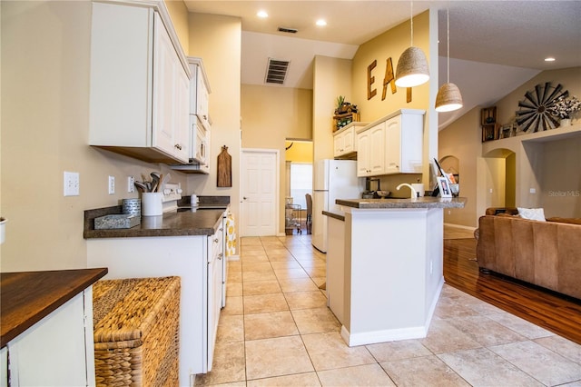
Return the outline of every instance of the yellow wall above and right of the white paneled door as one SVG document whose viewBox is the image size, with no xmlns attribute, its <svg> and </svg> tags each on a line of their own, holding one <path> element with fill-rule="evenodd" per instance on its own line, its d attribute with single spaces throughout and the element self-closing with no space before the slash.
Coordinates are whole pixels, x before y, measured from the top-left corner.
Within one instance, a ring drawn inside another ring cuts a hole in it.
<svg viewBox="0 0 581 387">
<path fill-rule="evenodd" d="M 285 176 L 285 141 L 287 138 L 312 138 L 312 92 L 276 86 L 242 84 L 242 147 L 276 149 L 281 154 L 279 175 Z M 281 186 L 279 233 L 284 233 L 284 197 Z"/>
</svg>

